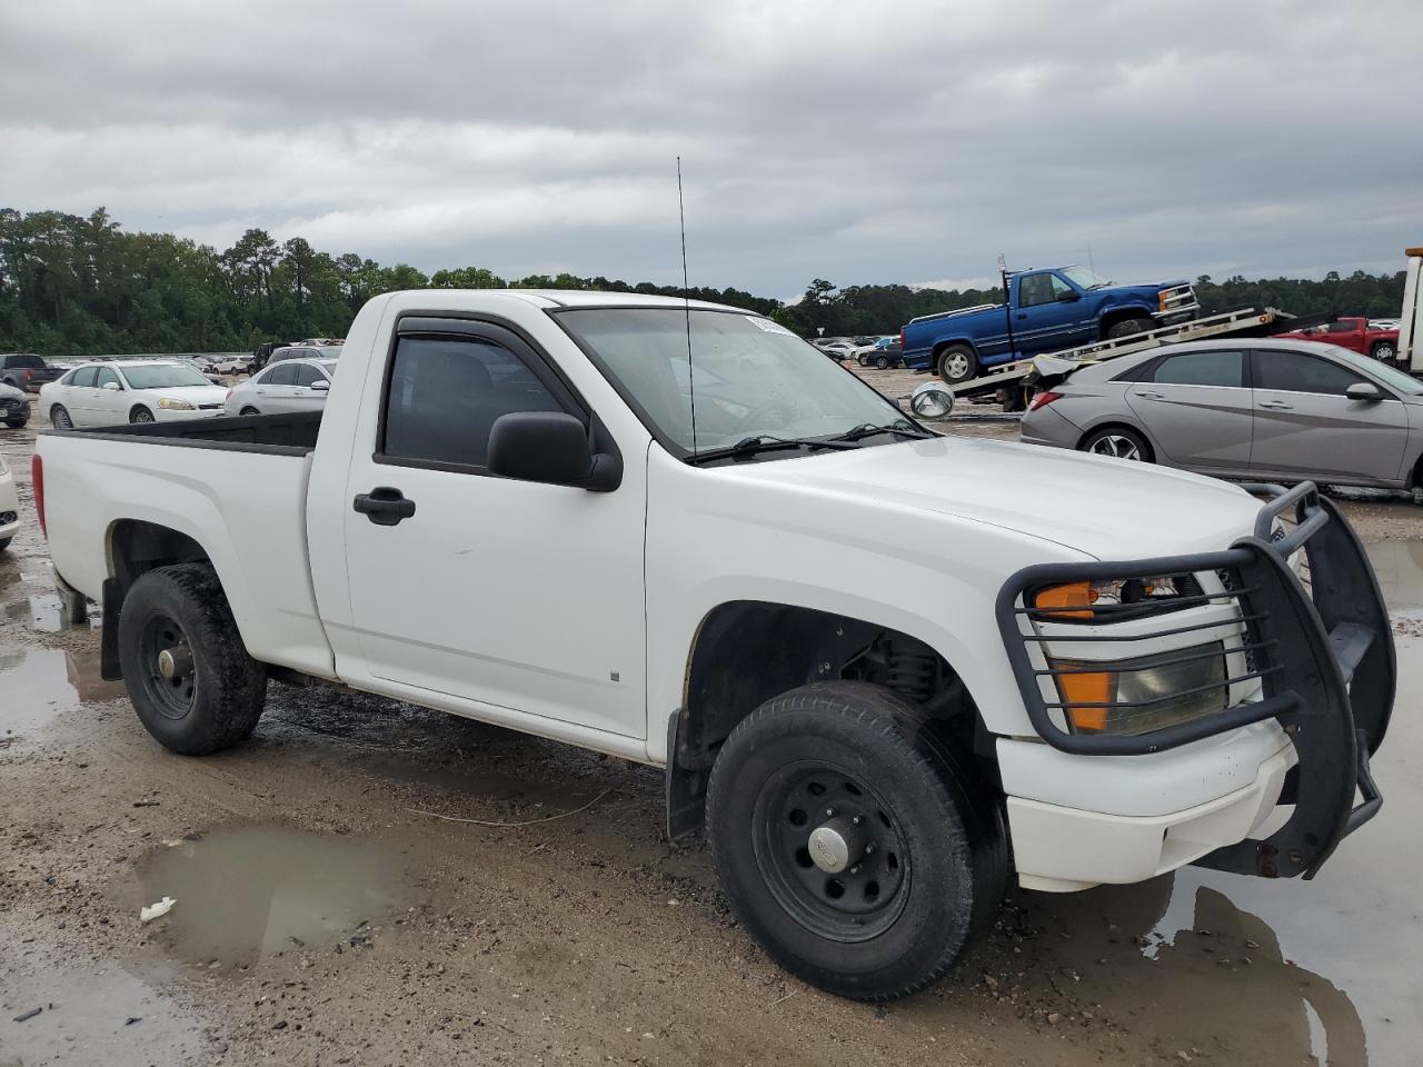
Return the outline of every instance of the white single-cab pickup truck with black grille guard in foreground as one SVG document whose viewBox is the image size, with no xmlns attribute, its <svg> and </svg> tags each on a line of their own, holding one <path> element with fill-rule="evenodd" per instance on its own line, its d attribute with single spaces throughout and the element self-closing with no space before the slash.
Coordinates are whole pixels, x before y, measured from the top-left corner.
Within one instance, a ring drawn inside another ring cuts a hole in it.
<svg viewBox="0 0 1423 1067">
<path fill-rule="evenodd" d="M 46 432 L 34 487 L 166 747 L 320 679 L 665 767 L 851 997 L 942 975 L 1010 871 L 1308 878 L 1382 802 L 1387 616 L 1313 487 L 941 437 L 731 307 L 380 296 L 324 413 Z"/>
</svg>

